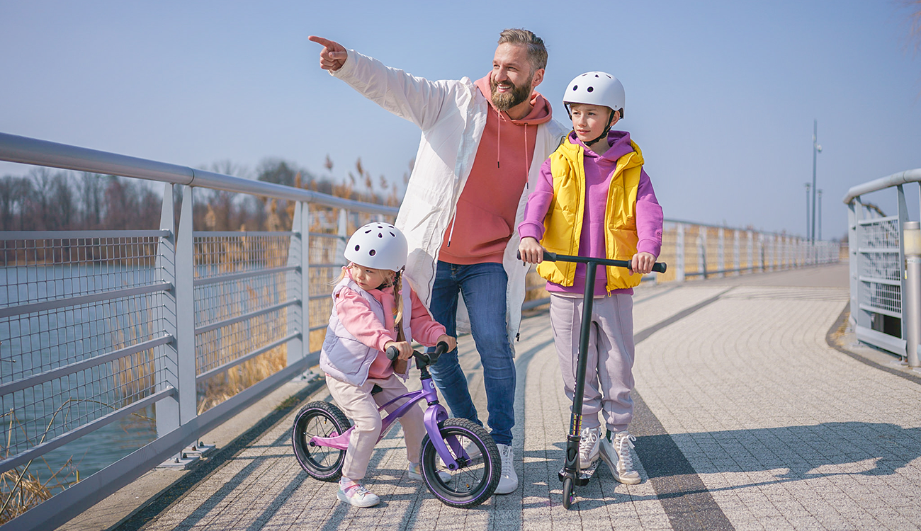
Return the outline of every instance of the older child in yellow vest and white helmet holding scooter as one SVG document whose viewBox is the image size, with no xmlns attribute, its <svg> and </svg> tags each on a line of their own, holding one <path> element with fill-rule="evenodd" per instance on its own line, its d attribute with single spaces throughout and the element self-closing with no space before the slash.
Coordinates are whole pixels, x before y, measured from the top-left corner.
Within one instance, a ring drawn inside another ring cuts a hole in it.
<svg viewBox="0 0 921 531">
<path fill-rule="evenodd" d="M 579 463 L 599 457 L 622 483 L 639 483 L 627 431 L 633 418 L 633 287 L 652 271 L 662 245 L 662 208 L 630 133 L 611 131 L 624 117 L 624 87 L 604 72 L 579 75 L 563 98 L 573 131 L 541 167 L 519 225 L 521 259 L 547 279 L 554 343 L 566 396 L 573 398 L 586 265 L 543 262 L 543 249 L 565 255 L 631 260 L 632 271 L 605 268 L 595 300 Z M 538 243 L 540 240 L 540 243 Z M 600 436 L 603 411 L 607 433 Z"/>
</svg>

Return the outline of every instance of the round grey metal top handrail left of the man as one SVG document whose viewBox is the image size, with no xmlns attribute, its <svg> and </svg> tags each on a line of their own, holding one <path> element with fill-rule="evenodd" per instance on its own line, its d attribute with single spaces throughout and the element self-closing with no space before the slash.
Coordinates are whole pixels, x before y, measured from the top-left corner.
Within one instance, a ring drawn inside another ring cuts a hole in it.
<svg viewBox="0 0 921 531">
<path fill-rule="evenodd" d="M 237 191 L 274 199 L 312 202 L 333 208 L 360 210 L 370 214 L 396 215 L 398 210 L 393 206 L 343 199 L 319 191 L 303 190 L 262 180 L 232 177 L 204 169 L 193 169 L 136 156 L 118 155 L 76 145 L 57 144 L 9 133 L 0 133 L 0 160 L 186 184 L 213 190 Z"/>
</svg>

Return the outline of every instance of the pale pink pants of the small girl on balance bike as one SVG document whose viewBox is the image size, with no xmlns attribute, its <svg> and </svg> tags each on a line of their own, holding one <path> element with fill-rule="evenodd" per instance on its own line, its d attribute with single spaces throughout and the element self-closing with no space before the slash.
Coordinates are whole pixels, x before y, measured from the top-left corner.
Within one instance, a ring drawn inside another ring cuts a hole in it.
<svg viewBox="0 0 921 531">
<path fill-rule="evenodd" d="M 375 384 L 383 391 L 371 395 L 371 388 Z M 406 393 L 407 389 L 396 375 L 384 379 L 368 378 L 362 386 L 346 384 L 331 375 L 326 375 L 326 387 L 330 389 L 330 395 L 339 409 L 355 424 L 355 430 L 348 442 L 348 450 L 345 452 L 343 476 L 357 481 L 365 477 L 367 463 L 371 460 L 375 444 L 378 444 L 382 420 L 378 411 L 379 406 Z M 387 412 L 396 410 L 403 403 L 404 400 L 400 400 L 391 404 L 387 407 Z M 406 459 L 410 463 L 418 463 L 422 438 L 426 435 L 422 408 L 418 405 L 410 408 L 400 418 L 400 423 L 406 439 Z"/>
</svg>

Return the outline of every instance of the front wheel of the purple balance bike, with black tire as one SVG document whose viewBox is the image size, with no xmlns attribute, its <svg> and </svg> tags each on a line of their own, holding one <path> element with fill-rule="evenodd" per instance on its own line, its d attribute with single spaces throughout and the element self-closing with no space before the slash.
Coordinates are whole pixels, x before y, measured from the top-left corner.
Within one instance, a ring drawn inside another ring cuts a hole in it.
<svg viewBox="0 0 921 531">
<path fill-rule="evenodd" d="M 438 500 L 451 507 L 468 508 L 485 502 L 495 492 L 502 476 L 502 459 L 493 438 L 483 426 L 466 419 L 448 419 L 439 424 L 439 430 L 460 468 L 446 468 L 438 458 L 435 444 L 426 434 L 421 456 L 422 479 L 426 487 Z M 455 455 L 453 448 L 464 448 L 466 453 L 475 457 L 464 459 Z M 450 479 L 442 479 L 439 472 L 450 474 Z"/>
</svg>

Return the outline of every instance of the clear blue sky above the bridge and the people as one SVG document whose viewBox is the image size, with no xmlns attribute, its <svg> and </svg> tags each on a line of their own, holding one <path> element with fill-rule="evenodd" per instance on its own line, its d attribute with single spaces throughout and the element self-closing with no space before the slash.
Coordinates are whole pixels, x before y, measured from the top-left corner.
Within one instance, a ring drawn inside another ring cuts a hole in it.
<svg viewBox="0 0 921 531">
<path fill-rule="evenodd" d="M 921 57 L 896 2 L 580 5 L 0 0 L 0 132 L 250 174 L 267 156 L 323 174 L 328 154 L 342 178 L 360 156 L 402 183 L 418 131 L 322 72 L 308 35 L 476 79 L 499 31 L 523 27 L 548 45 L 537 89 L 561 121 L 575 75 L 624 82 L 618 127 L 666 217 L 804 234 L 813 119 L 824 237 L 845 234 L 848 188 L 921 167 Z"/>
</svg>

